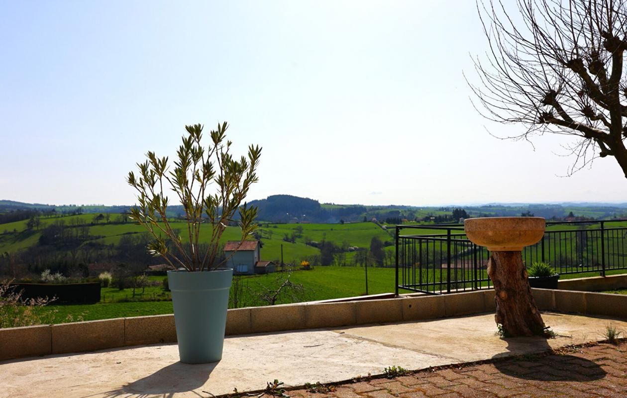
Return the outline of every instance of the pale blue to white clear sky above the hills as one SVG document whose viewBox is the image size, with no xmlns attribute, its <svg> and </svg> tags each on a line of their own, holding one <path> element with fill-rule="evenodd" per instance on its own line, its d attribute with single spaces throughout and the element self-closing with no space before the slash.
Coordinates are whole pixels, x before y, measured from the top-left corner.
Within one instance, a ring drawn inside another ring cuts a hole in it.
<svg viewBox="0 0 627 398">
<path fill-rule="evenodd" d="M 463 79 L 472 1 L 0 0 L 0 199 L 130 204 L 184 125 L 263 146 L 250 199 L 627 201 L 614 159 L 563 178 L 565 137 L 502 141 Z"/>
</svg>

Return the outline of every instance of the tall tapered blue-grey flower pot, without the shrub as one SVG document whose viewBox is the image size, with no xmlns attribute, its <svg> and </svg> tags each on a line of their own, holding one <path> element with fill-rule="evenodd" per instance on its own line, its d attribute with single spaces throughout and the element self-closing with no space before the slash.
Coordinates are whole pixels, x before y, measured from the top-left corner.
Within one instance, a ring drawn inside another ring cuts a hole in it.
<svg viewBox="0 0 627 398">
<path fill-rule="evenodd" d="M 226 310 L 233 270 L 167 271 L 179 357 L 184 364 L 222 359 Z"/>
</svg>

